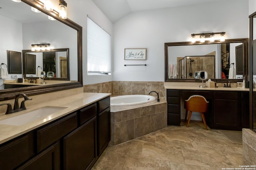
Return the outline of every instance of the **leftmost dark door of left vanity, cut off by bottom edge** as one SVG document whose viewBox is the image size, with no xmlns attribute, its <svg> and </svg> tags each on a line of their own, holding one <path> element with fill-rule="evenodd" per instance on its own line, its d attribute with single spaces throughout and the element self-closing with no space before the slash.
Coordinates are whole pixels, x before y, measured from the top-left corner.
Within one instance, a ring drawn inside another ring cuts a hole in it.
<svg viewBox="0 0 256 170">
<path fill-rule="evenodd" d="M 60 169 L 60 147 L 58 143 L 50 146 L 18 170 L 59 170 Z"/>
</svg>

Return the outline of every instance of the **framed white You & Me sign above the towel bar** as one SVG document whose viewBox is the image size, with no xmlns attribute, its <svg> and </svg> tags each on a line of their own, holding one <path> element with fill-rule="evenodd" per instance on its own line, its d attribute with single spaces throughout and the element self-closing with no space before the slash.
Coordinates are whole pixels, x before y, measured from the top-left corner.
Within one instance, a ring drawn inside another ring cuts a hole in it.
<svg viewBox="0 0 256 170">
<path fill-rule="evenodd" d="M 146 60 L 146 48 L 124 49 L 124 60 Z"/>
</svg>

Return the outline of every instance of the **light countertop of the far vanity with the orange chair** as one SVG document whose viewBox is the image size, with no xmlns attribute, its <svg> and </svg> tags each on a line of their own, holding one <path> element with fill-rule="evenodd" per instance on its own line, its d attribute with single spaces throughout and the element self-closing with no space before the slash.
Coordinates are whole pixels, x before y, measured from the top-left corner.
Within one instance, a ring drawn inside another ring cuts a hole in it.
<svg viewBox="0 0 256 170">
<path fill-rule="evenodd" d="M 165 89 L 177 89 L 177 90 L 223 90 L 223 91 L 250 91 L 249 88 L 242 87 L 217 87 L 217 88 L 200 88 L 199 86 L 164 86 Z"/>
</svg>

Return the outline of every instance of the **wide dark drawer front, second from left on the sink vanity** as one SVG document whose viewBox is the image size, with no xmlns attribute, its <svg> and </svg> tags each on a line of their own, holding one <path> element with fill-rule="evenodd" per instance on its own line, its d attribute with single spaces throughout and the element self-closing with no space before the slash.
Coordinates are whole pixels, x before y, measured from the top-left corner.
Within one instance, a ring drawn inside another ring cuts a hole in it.
<svg viewBox="0 0 256 170">
<path fill-rule="evenodd" d="M 76 113 L 69 115 L 37 131 L 38 152 L 50 146 L 77 127 Z"/>
</svg>

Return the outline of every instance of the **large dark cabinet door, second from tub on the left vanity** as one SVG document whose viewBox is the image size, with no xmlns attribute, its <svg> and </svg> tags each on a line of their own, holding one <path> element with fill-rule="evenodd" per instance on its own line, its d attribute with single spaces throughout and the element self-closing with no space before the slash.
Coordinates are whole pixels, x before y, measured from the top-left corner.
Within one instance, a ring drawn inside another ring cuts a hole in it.
<svg viewBox="0 0 256 170">
<path fill-rule="evenodd" d="M 90 169 L 97 158 L 96 116 L 64 137 L 65 170 Z"/>
</svg>

